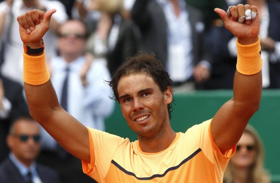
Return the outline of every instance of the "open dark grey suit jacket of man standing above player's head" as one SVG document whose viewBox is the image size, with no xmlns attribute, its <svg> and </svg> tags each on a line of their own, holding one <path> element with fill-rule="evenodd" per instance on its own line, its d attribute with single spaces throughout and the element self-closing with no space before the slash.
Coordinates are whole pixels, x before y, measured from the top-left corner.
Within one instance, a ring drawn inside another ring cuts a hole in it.
<svg viewBox="0 0 280 183">
<path fill-rule="evenodd" d="M 187 5 L 192 29 L 193 65 L 202 59 L 209 60 L 203 53 L 203 32 L 198 32 L 196 25 L 203 22 L 199 10 Z M 155 0 L 136 0 L 131 10 L 134 22 L 139 26 L 142 35 L 143 51 L 154 52 L 157 59 L 166 65 L 167 62 L 167 22 L 161 6 Z M 203 58 L 202 58 L 203 57 Z"/>
</svg>

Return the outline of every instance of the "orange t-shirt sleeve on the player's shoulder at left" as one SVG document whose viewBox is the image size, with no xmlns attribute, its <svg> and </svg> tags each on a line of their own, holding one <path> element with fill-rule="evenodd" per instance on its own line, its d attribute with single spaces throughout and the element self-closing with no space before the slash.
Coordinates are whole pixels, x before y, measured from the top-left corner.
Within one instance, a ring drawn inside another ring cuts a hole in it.
<svg viewBox="0 0 280 183">
<path fill-rule="evenodd" d="M 83 172 L 95 180 L 104 179 L 117 147 L 128 139 L 88 128 L 90 163 L 82 160 Z"/>
</svg>

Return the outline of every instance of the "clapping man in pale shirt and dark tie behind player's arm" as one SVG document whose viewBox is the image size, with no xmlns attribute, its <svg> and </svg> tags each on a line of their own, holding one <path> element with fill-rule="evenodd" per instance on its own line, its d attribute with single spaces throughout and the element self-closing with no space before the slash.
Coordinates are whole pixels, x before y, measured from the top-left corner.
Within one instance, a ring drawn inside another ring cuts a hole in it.
<svg viewBox="0 0 280 183">
<path fill-rule="evenodd" d="M 108 69 L 85 54 L 87 32 L 80 20 L 68 20 L 59 28 L 60 57 L 51 60 L 50 73 L 60 105 L 83 125 L 105 131 L 104 118 L 113 111 Z M 67 120 L 66 120 L 67 121 Z M 41 163 L 56 169 L 62 182 L 92 182 L 80 168 L 81 161 L 62 149 L 42 129 Z"/>
</svg>

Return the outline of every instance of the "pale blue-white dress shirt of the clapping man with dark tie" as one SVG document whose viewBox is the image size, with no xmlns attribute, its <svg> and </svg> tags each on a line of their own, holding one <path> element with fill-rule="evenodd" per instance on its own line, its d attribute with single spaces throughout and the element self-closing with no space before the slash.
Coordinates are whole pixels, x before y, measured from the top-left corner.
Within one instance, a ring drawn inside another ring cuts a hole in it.
<svg viewBox="0 0 280 183">
<path fill-rule="evenodd" d="M 111 76 L 103 63 L 94 60 L 86 75 L 88 85 L 84 87 L 80 79 L 80 69 L 84 63 L 84 56 L 70 64 L 67 64 L 62 57 L 53 58 L 51 60 L 52 85 L 58 101 L 61 101 L 62 86 L 66 76 L 65 70 L 69 67 L 67 112 L 83 125 L 104 131 L 104 118 L 112 113 L 115 103 L 109 98 L 113 94 L 111 88 L 104 82 L 104 80 L 110 81 Z M 42 147 L 54 149 L 55 146 L 56 142 L 43 130 Z"/>
</svg>

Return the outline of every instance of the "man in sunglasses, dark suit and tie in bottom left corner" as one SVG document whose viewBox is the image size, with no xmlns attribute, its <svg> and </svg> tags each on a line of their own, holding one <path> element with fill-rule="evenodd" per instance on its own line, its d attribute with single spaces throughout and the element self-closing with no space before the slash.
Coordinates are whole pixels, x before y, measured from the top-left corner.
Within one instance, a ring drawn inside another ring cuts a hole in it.
<svg viewBox="0 0 280 183">
<path fill-rule="evenodd" d="M 10 128 L 9 156 L 0 165 L 0 183 L 58 183 L 58 174 L 35 159 L 40 151 L 40 127 L 32 118 L 21 117 Z"/>
</svg>

